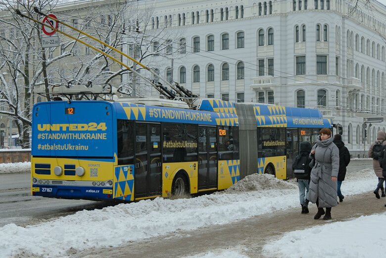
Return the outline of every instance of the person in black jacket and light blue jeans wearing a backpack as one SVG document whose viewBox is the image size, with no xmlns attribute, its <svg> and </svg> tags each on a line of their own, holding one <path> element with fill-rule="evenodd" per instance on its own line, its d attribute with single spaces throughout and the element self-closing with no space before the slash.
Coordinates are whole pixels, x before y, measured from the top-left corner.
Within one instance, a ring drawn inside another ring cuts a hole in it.
<svg viewBox="0 0 386 258">
<path fill-rule="evenodd" d="M 297 187 L 299 188 L 299 199 L 301 206 L 301 213 L 308 213 L 307 195 L 309 191 L 310 182 L 310 152 L 311 144 L 309 142 L 300 143 L 300 153 L 292 162 L 293 174 L 296 177 Z"/>
</svg>

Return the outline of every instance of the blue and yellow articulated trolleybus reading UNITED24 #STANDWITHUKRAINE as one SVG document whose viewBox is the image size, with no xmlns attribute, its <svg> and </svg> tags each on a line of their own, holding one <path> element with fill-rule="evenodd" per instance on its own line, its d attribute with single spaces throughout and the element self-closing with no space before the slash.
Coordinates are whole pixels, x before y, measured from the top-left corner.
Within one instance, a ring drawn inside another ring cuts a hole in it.
<svg viewBox="0 0 386 258">
<path fill-rule="evenodd" d="M 34 105 L 32 195 L 138 201 L 226 189 L 253 173 L 286 179 L 299 143 L 332 127 L 317 109 L 96 99 Z"/>
</svg>

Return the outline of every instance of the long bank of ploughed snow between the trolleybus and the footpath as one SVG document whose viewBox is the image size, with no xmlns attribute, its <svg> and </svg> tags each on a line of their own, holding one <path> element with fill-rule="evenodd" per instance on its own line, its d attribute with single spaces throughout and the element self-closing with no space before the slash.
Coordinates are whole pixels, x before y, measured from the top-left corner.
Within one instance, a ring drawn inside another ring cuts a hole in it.
<svg viewBox="0 0 386 258">
<path fill-rule="evenodd" d="M 373 170 L 348 174 L 352 176 L 347 177 L 342 185 L 344 195 L 368 192 L 374 188 Z M 299 206 L 297 186 L 271 175 L 248 176 L 247 180 L 241 180 L 228 191 L 220 193 L 191 199 L 156 198 L 83 210 L 26 227 L 7 224 L 0 228 L 0 253 L 2 257 L 17 254 L 66 257 L 74 250 L 127 245 L 167 233 L 227 224 Z M 223 255 L 221 252 L 202 254 L 200 257 L 220 257 Z"/>
</svg>

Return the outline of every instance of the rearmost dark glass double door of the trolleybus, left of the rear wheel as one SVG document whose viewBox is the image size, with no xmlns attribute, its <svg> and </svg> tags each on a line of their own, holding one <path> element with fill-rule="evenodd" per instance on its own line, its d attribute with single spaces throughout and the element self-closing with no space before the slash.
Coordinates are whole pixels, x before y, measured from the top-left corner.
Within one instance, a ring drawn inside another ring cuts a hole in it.
<svg viewBox="0 0 386 258">
<path fill-rule="evenodd" d="M 136 124 L 135 197 L 161 195 L 161 125 Z"/>
</svg>

